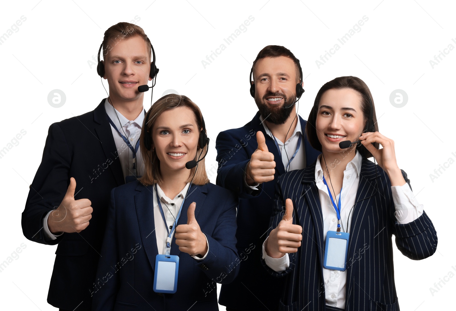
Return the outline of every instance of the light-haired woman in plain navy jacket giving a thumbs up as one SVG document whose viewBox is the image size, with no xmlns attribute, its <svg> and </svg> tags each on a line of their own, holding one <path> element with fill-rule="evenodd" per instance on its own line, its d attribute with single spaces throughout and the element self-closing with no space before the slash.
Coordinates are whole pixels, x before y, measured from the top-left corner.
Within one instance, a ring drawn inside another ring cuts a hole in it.
<svg viewBox="0 0 456 311">
<path fill-rule="evenodd" d="M 209 183 L 208 143 L 188 97 L 152 105 L 140 136 L 144 175 L 111 192 L 93 310 L 218 310 L 216 282 L 238 274 L 238 202 Z"/>
</svg>

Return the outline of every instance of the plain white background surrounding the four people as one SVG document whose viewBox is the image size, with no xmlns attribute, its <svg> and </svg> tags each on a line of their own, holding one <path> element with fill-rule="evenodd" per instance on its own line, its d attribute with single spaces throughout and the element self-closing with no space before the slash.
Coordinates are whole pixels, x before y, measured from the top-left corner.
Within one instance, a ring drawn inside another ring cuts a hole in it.
<svg viewBox="0 0 456 311">
<path fill-rule="evenodd" d="M 394 248 L 401 309 L 454 308 L 456 277 L 446 277 L 448 282 L 441 282 L 442 288 L 433 295 L 430 287 L 450 271 L 456 274 L 451 231 L 455 227 L 456 50 L 445 50 L 448 54 L 434 68 L 430 60 L 448 45 L 456 47 L 451 40 L 456 41 L 455 6 L 453 1 L 430 0 L 2 1 L 0 34 L 22 15 L 26 21 L 0 45 L 0 149 L 21 130 L 26 135 L 0 159 L 0 262 L 21 243 L 26 248 L 0 272 L 1 308 L 55 310 L 46 297 L 56 246 L 28 241 L 22 235 L 21 212 L 49 125 L 93 110 L 106 97 L 96 65 L 88 61 L 96 56 L 104 30 L 131 20 L 145 30 L 155 47 L 160 73 L 154 100 L 173 89 L 200 106 L 211 138 L 206 167 L 212 182 L 216 175 L 209 170 L 217 166 L 218 132 L 244 125 L 257 110 L 247 77 L 265 45 L 284 45 L 301 60 L 306 93 L 299 113 L 305 119 L 326 81 L 342 75 L 363 79 L 373 94 L 379 130 L 394 139 L 399 166 L 408 173 L 415 196 L 439 236 L 436 253 L 423 261 L 409 260 Z M 250 15 L 254 21 L 228 45 L 223 39 Z M 342 45 L 337 39 L 363 16 L 368 21 Z M 202 60 L 221 44 L 226 49 L 204 68 Z M 318 68 L 316 60 L 335 44 L 340 49 Z M 47 101 L 54 89 L 66 94 L 61 108 Z M 402 108 L 389 100 L 397 89 L 408 94 Z M 145 93 L 146 108 L 149 101 L 150 91 Z M 434 170 L 440 165 L 447 168 L 437 176 Z M 431 179 L 430 174 L 437 178 Z"/>
</svg>

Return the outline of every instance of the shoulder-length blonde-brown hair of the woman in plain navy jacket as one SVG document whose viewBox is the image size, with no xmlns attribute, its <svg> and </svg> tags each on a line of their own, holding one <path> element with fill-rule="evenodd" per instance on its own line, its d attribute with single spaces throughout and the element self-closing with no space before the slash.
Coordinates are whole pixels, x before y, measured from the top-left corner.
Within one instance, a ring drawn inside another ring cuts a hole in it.
<svg viewBox="0 0 456 311">
<path fill-rule="evenodd" d="M 202 114 L 199 107 L 192 101 L 190 98 L 184 95 L 168 94 L 161 97 L 157 100 L 152 107 L 150 107 L 147 116 L 149 118 L 144 118 L 141 135 L 140 135 L 140 146 L 141 146 L 141 156 L 144 162 L 144 173 L 140 178 L 140 182 L 145 186 L 150 186 L 155 183 L 161 185 L 163 178 L 160 171 L 160 160 L 157 157 L 155 149 L 147 150 L 144 145 L 144 135 L 148 132 L 150 135 L 153 134 L 153 127 L 157 118 L 166 110 L 171 110 L 176 107 L 188 107 L 195 114 L 195 119 L 197 121 L 198 130 L 202 130 Z M 146 130 L 147 128 L 147 130 Z M 152 135 L 153 137 L 153 135 Z M 194 160 L 197 161 L 200 154 L 205 154 L 207 150 L 207 145 L 203 149 L 198 145 L 197 154 L 195 155 Z M 202 152 L 202 153 L 201 153 Z M 196 171 L 196 173 L 195 173 Z M 198 162 L 198 166 L 190 170 L 190 175 L 187 182 L 192 180 L 194 185 L 205 185 L 209 182 L 206 173 L 206 165 L 204 159 Z"/>
</svg>

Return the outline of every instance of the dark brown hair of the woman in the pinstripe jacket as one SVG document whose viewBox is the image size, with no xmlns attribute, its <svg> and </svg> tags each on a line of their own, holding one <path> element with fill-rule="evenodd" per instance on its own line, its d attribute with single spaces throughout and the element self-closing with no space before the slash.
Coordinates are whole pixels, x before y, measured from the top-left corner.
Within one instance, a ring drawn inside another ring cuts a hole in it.
<svg viewBox="0 0 456 311">
<path fill-rule="evenodd" d="M 321 143 L 318 140 L 316 135 L 316 115 L 318 113 L 318 105 L 320 104 L 321 96 L 327 91 L 332 89 L 352 89 L 355 90 L 361 95 L 361 110 L 363 111 L 363 117 L 365 120 L 364 129 L 367 129 L 367 125 L 369 123 L 369 115 L 372 111 L 372 120 L 373 123 L 373 130 L 376 132 L 378 131 L 378 124 L 377 124 L 377 116 L 375 114 L 375 106 L 373 104 L 372 94 L 363 80 L 359 79 L 358 77 L 353 76 L 345 76 L 345 77 L 338 77 L 334 80 L 326 82 L 318 91 L 315 97 L 314 105 L 311 109 L 311 113 L 307 118 L 307 125 L 306 125 L 306 135 L 307 139 L 309 140 L 310 144 L 314 149 L 321 151 Z M 372 102 L 372 107 L 371 107 Z M 376 149 L 379 148 L 378 143 L 373 144 Z M 372 157 L 372 154 L 364 147 L 363 145 L 357 145 L 356 149 L 359 151 L 361 156 L 366 158 Z"/>
</svg>

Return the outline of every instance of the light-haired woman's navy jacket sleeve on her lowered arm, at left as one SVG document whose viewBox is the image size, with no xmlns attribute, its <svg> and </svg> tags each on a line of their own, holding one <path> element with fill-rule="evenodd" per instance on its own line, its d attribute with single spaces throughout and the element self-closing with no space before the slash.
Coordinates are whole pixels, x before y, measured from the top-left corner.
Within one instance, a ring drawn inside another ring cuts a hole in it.
<svg viewBox="0 0 456 311">
<path fill-rule="evenodd" d="M 115 188 L 111 191 L 108 219 L 104 232 L 101 257 L 98 261 L 97 276 L 95 280 L 102 280 L 101 288 L 94 287 L 90 290 L 93 297 L 93 311 L 113 310 L 114 302 L 119 291 L 119 273 L 115 273 L 113 263 L 119 262 L 118 239 L 116 230 Z"/>
</svg>

